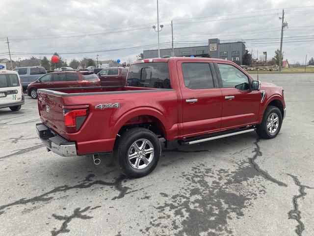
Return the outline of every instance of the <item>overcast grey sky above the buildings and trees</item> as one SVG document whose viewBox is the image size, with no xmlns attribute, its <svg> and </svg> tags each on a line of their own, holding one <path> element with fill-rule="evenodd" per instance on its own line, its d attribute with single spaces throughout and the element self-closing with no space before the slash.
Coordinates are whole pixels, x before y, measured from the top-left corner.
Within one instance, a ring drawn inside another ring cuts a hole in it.
<svg viewBox="0 0 314 236">
<path fill-rule="evenodd" d="M 159 21 L 164 25 L 160 43 L 169 47 L 173 20 L 177 46 L 205 44 L 209 38 L 243 39 L 254 58 L 259 50 L 260 55 L 267 51 L 270 59 L 280 47 L 282 8 L 288 22 L 284 59 L 302 63 L 306 54 L 314 57 L 313 0 L 159 0 Z M 15 60 L 51 58 L 57 52 L 68 63 L 73 58 L 96 59 L 97 54 L 99 60 L 127 61 L 135 60 L 143 49 L 157 48 L 157 32 L 152 29 L 157 22 L 156 0 L 1 0 L 0 9 L 0 58 L 8 58 L 1 54 L 7 53 L 6 36 Z M 123 50 L 65 54 L 113 49 Z"/>
</svg>

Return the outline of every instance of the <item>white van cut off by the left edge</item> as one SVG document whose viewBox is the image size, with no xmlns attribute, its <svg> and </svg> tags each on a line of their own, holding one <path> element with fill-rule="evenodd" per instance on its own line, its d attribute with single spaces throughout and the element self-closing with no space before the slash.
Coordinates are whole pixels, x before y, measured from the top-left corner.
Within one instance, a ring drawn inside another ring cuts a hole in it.
<svg viewBox="0 0 314 236">
<path fill-rule="evenodd" d="M 8 107 L 16 112 L 24 103 L 22 83 L 18 72 L 0 70 L 0 108 Z"/>
</svg>

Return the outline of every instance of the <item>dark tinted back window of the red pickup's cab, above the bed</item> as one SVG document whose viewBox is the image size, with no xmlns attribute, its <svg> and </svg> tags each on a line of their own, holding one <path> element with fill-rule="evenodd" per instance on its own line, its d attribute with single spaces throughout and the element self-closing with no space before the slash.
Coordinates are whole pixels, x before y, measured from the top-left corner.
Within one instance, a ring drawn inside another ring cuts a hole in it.
<svg viewBox="0 0 314 236">
<path fill-rule="evenodd" d="M 127 83 L 129 86 L 171 89 L 167 62 L 148 62 L 130 66 Z"/>
</svg>

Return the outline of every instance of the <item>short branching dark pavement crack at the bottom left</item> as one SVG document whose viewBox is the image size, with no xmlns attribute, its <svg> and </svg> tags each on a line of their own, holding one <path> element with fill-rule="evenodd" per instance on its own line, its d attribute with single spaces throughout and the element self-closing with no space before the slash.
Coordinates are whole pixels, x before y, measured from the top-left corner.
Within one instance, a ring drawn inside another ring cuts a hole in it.
<svg viewBox="0 0 314 236">
<path fill-rule="evenodd" d="M 62 216 L 62 215 L 52 214 L 53 218 L 55 218 L 57 220 L 64 220 L 64 222 L 62 223 L 61 228 L 59 230 L 52 230 L 51 231 L 51 235 L 52 236 L 56 236 L 58 234 L 70 232 L 70 230 L 68 229 L 68 224 L 74 218 L 78 218 L 78 219 L 82 219 L 82 220 L 87 220 L 87 219 L 93 218 L 92 216 L 88 216 L 88 215 L 83 215 L 82 214 L 83 212 L 85 212 L 85 211 L 87 211 L 89 209 L 95 209 L 95 207 L 93 207 L 93 208 L 85 207 L 82 210 L 80 210 L 80 208 L 76 208 L 74 210 L 73 214 L 70 215 L 70 216 L 67 216 L 67 215 Z"/>
</svg>

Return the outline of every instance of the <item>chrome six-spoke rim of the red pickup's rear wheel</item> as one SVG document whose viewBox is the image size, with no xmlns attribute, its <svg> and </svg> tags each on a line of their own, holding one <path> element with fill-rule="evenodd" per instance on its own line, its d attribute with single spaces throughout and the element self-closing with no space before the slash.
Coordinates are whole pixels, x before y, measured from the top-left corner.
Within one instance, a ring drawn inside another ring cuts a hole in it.
<svg viewBox="0 0 314 236">
<path fill-rule="evenodd" d="M 154 158 L 154 146 L 147 139 L 136 140 L 128 151 L 128 160 L 134 169 L 147 167 Z"/>
</svg>

